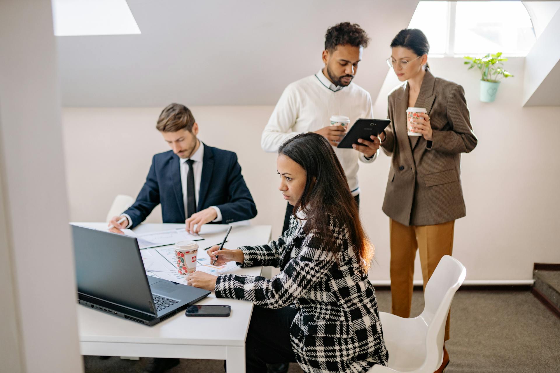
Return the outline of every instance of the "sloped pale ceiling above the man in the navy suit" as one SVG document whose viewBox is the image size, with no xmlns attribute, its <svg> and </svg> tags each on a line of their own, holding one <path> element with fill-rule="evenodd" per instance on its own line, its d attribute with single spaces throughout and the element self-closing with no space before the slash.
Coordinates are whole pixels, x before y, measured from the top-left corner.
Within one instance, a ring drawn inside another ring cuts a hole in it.
<svg viewBox="0 0 560 373">
<path fill-rule="evenodd" d="M 359 23 L 371 37 L 354 82 L 375 101 L 394 35 L 417 1 L 128 0 L 141 35 L 57 37 L 62 105 L 274 105 L 322 67 L 324 34 Z"/>
</svg>

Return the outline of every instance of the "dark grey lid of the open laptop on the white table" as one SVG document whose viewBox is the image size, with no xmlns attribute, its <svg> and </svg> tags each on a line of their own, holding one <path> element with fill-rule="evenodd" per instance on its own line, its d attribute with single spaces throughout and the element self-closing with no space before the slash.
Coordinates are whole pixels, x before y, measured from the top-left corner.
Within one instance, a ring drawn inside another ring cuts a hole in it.
<svg viewBox="0 0 560 373">
<path fill-rule="evenodd" d="M 78 292 L 153 313 L 136 238 L 72 225 Z"/>
</svg>

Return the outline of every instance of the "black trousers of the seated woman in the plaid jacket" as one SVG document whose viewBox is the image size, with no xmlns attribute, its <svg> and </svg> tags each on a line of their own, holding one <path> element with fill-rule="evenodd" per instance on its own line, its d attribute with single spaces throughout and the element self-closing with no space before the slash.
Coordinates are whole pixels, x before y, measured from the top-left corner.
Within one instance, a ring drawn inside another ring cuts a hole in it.
<svg viewBox="0 0 560 373">
<path fill-rule="evenodd" d="M 290 343 L 290 326 L 296 313 L 290 306 L 278 309 L 253 307 L 245 339 L 246 373 L 267 373 L 267 364 L 296 362 Z"/>
</svg>

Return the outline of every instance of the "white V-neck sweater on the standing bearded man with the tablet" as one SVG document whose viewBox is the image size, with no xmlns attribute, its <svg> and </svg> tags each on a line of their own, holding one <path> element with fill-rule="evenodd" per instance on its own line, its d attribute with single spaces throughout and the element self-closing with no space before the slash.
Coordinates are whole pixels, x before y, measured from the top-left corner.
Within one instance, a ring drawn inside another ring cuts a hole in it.
<svg viewBox="0 0 560 373">
<path fill-rule="evenodd" d="M 325 77 L 323 70 L 319 70 L 284 89 L 264 128 L 260 145 L 265 152 L 277 152 L 287 139 L 330 125 L 332 115 L 346 115 L 350 118 L 350 125 L 359 118 L 373 118 L 371 96 L 355 83 L 346 87 L 335 86 Z M 379 150 L 367 159 L 354 149 L 333 149 L 346 173 L 352 195 L 358 195 L 358 159 L 371 163 Z"/>
</svg>

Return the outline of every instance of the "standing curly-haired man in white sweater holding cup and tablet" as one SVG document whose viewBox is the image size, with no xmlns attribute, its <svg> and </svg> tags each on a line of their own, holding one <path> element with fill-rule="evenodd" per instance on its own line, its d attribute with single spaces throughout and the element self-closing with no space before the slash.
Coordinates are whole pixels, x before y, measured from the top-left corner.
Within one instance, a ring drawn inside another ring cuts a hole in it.
<svg viewBox="0 0 560 373">
<path fill-rule="evenodd" d="M 373 162 L 379 153 L 380 140 L 371 136 L 371 141 L 359 140 L 362 145 L 354 145 L 354 149 L 339 149 L 336 146 L 347 128 L 331 126 L 330 117 L 347 116 L 349 125 L 358 118 L 374 117 L 370 94 L 352 83 L 369 40 L 356 23 L 338 23 L 326 30 L 324 68 L 284 89 L 260 140 L 265 152 L 277 152 L 284 141 L 297 134 L 313 131 L 325 136 L 346 172 L 348 186 L 358 204 L 358 159 Z M 288 228 L 292 210 L 288 203 L 282 232 Z"/>
</svg>

